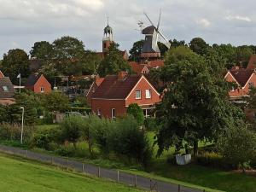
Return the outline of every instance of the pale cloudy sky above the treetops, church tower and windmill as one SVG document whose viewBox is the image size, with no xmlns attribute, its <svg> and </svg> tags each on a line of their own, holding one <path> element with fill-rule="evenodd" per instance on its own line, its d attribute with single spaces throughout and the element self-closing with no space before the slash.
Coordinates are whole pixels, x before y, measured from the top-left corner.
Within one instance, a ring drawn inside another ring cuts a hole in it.
<svg viewBox="0 0 256 192">
<path fill-rule="evenodd" d="M 103 28 L 113 27 L 120 49 L 143 39 L 138 20 L 157 25 L 168 39 L 208 44 L 256 44 L 255 0 L 0 0 L 0 59 L 9 49 L 28 53 L 38 41 L 72 36 L 85 49 L 101 50 Z"/>
</svg>

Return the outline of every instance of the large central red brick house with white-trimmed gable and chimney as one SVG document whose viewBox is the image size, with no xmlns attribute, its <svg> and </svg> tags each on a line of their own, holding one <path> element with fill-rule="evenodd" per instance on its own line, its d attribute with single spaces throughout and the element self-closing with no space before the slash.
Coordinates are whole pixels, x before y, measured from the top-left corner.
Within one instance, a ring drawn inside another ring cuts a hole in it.
<svg viewBox="0 0 256 192">
<path fill-rule="evenodd" d="M 160 93 L 143 74 L 108 75 L 91 97 L 92 112 L 106 118 L 123 116 L 131 103 L 143 108 L 147 117 L 160 102 Z"/>
</svg>

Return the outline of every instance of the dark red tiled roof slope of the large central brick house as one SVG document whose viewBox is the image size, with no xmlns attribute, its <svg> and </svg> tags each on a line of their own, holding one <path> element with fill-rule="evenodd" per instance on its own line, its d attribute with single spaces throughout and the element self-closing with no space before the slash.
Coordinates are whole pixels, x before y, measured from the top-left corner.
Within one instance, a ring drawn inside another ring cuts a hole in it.
<svg viewBox="0 0 256 192">
<path fill-rule="evenodd" d="M 118 79 L 118 75 L 108 75 L 96 89 L 92 98 L 125 99 L 142 75 L 127 75 L 125 79 Z"/>
</svg>

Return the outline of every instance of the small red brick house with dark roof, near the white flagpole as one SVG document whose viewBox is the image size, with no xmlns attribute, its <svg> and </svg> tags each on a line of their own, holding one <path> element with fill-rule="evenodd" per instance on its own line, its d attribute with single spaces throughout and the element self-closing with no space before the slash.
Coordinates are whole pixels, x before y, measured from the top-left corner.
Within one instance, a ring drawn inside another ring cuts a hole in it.
<svg viewBox="0 0 256 192">
<path fill-rule="evenodd" d="M 51 92 L 51 84 L 49 84 L 49 81 L 44 77 L 43 74 L 30 75 L 26 81 L 25 86 L 26 86 L 26 89 L 32 90 L 35 93 L 50 93 Z"/>
</svg>

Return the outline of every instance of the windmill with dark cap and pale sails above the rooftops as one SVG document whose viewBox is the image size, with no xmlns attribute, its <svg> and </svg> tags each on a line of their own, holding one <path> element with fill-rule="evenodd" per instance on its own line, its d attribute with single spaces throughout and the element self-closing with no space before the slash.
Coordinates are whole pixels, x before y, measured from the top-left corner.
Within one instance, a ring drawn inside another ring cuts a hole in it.
<svg viewBox="0 0 256 192">
<path fill-rule="evenodd" d="M 151 23 L 152 26 L 148 26 L 143 29 L 143 34 L 145 35 L 145 43 L 143 45 L 143 50 L 142 50 L 142 57 L 143 58 L 155 58 L 155 57 L 160 57 L 160 49 L 158 47 L 158 40 L 159 37 L 163 38 L 165 40 L 165 45 L 168 49 L 170 49 L 171 44 L 167 40 L 167 38 L 163 35 L 162 32 L 160 32 L 160 19 L 161 19 L 161 11 L 160 11 L 160 16 L 159 20 L 157 23 L 157 26 L 154 25 L 152 20 L 148 17 L 146 13 L 144 15 L 147 17 L 149 22 Z"/>
</svg>

